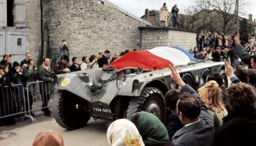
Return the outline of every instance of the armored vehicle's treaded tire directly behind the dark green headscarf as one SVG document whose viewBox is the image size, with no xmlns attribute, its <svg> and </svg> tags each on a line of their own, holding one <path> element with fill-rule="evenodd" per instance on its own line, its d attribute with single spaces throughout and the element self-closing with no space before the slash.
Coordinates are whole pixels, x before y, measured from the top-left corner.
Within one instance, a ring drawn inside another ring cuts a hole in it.
<svg viewBox="0 0 256 146">
<path fill-rule="evenodd" d="M 166 105 L 162 92 L 157 88 L 146 87 L 141 91 L 140 97 L 133 97 L 127 109 L 127 119 L 130 119 L 134 113 L 139 111 L 155 114 L 164 122 Z"/>
</svg>

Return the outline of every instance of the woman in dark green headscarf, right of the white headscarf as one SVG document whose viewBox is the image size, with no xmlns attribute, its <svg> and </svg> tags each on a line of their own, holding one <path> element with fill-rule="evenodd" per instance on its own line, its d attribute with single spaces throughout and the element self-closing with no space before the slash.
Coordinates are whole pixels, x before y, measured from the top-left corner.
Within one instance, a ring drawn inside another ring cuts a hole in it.
<svg viewBox="0 0 256 146">
<path fill-rule="evenodd" d="M 132 116 L 146 146 L 172 145 L 165 125 L 154 114 L 141 111 Z"/>
</svg>

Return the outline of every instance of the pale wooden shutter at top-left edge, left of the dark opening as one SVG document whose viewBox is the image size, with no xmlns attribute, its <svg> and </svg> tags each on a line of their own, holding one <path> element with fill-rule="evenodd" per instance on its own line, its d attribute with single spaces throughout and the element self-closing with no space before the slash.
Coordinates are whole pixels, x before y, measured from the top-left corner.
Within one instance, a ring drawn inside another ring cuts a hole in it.
<svg viewBox="0 0 256 146">
<path fill-rule="evenodd" d="M 0 0 L 0 27 L 7 26 L 7 0 Z"/>
</svg>

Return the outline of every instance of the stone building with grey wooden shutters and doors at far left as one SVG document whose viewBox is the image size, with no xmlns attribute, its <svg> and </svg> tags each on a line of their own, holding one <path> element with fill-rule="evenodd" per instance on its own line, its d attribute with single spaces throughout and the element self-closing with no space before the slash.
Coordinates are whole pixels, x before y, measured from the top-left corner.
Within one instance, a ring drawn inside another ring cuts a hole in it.
<svg viewBox="0 0 256 146">
<path fill-rule="evenodd" d="M 38 60 L 41 47 L 40 1 L 0 0 L 0 57 L 9 53 L 13 61 L 31 52 Z"/>
</svg>

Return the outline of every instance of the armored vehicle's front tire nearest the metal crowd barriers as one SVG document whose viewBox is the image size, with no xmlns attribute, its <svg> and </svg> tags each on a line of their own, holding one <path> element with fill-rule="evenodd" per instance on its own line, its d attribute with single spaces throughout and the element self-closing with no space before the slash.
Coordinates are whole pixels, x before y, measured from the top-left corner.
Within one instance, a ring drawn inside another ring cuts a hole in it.
<svg viewBox="0 0 256 146">
<path fill-rule="evenodd" d="M 56 122 L 67 130 L 85 127 L 90 119 L 86 100 L 69 92 L 57 92 L 53 97 L 53 116 Z"/>
</svg>

